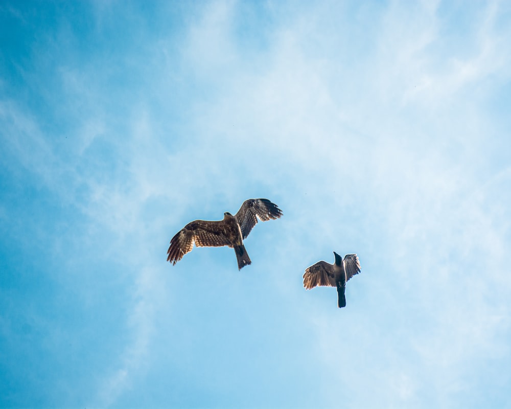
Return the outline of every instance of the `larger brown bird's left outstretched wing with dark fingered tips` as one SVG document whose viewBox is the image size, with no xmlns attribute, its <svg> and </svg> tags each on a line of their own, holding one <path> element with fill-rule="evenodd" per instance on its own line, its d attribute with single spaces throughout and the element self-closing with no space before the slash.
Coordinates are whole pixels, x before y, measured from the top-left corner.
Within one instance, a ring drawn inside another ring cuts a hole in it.
<svg viewBox="0 0 511 409">
<path fill-rule="evenodd" d="M 170 241 L 167 261 L 176 264 L 183 256 L 197 247 L 232 246 L 225 235 L 224 222 L 195 220 L 184 226 Z"/>
</svg>

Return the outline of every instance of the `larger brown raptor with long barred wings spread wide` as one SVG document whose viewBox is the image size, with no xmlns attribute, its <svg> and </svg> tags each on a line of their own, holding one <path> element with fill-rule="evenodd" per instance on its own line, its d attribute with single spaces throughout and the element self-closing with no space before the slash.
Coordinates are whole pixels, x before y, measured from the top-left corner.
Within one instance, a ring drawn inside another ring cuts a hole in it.
<svg viewBox="0 0 511 409">
<path fill-rule="evenodd" d="M 243 240 L 248 236 L 258 219 L 267 221 L 282 216 L 275 203 L 268 199 L 247 199 L 234 216 L 224 213 L 223 220 L 194 220 L 184 226 L 171 239 L 167 261 L 175 265 L 183 256 L 197 247 L 233 247 L 238 259 L 238 269 L 251 264 Z"/>
</svg>

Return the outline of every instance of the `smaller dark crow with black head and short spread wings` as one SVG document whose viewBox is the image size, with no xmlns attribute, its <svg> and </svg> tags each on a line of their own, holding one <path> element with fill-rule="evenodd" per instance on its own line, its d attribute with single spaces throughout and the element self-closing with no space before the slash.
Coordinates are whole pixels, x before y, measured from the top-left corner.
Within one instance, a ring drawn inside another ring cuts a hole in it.
<svg viewBox="0 0 511 409">
<path fill-rule="evenodd" d="M 346 281 L 360 272 L 360 262 L 356 254 L 346 254 L 344 260 L 334 252 L 335 263 L 318 261 L 305 269 L 304 287 L 308 290 L 317 285 L 337 287 L 337 306 L 346 306 Z"/>
</svg>

